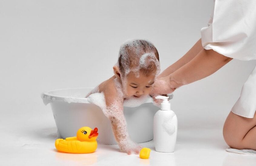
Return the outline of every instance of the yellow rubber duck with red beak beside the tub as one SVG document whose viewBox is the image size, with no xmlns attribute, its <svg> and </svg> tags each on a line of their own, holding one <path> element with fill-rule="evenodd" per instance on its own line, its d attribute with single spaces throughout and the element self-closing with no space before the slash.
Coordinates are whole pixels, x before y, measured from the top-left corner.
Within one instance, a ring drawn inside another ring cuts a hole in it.
<svg viewBox="0 0 256 166">
<path fill-rule="evenodd" d="M 76 137 L 56 139 L 55 147 L 58 151 L 66 153 L 92 153 L 97 149 L 97 137 L 97 128 L 92 130 L 90 127 L 81 127 Z"/>
</svg>

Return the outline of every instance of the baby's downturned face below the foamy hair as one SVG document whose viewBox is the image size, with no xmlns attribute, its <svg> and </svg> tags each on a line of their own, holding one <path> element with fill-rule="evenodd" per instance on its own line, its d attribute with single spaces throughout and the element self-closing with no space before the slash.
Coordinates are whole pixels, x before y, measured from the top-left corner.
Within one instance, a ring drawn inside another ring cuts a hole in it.
<svg viewBox="0 0 256 166">
<path fill-rule="evenodd" d="M 126 96 L 141 97 L 151 92 L 155 82 L 155 75 L 150 74 L 149 76 L 145 76 L 143 73 L 140 73 L 140 76 L 137 78 L 133 72 L 130 72 L 126 76 L 126 79 Z"/>
</svg>

